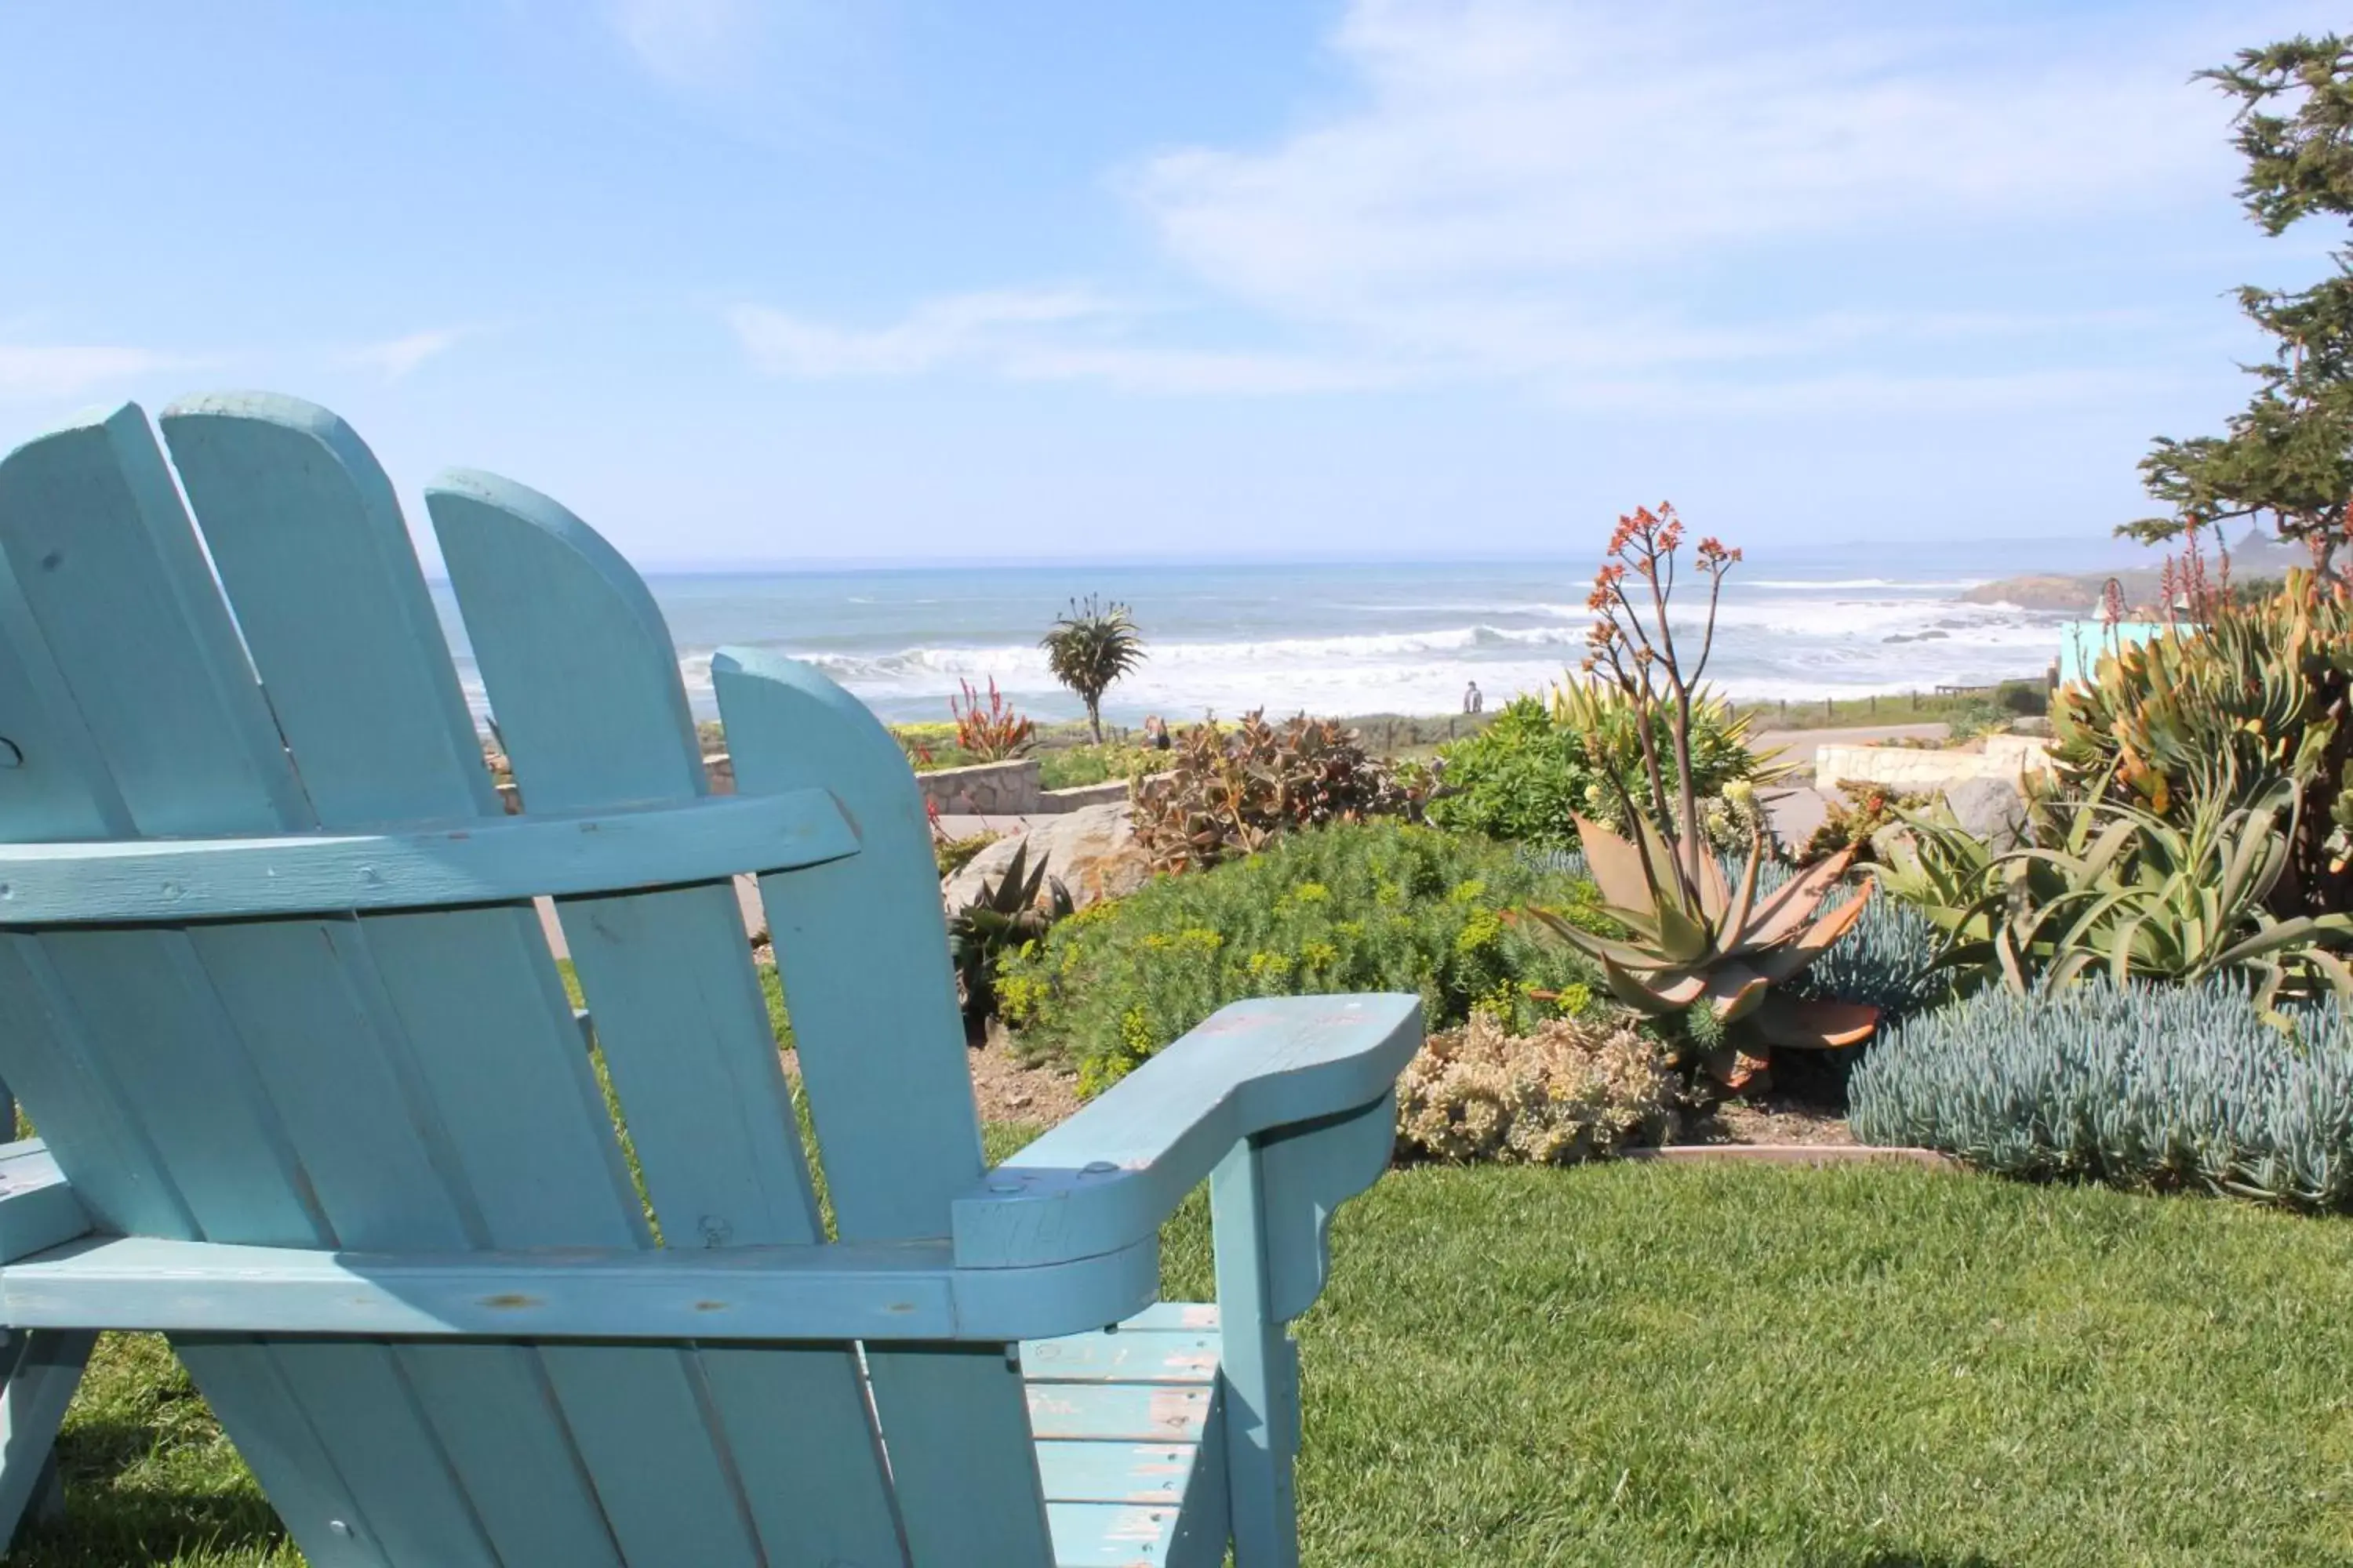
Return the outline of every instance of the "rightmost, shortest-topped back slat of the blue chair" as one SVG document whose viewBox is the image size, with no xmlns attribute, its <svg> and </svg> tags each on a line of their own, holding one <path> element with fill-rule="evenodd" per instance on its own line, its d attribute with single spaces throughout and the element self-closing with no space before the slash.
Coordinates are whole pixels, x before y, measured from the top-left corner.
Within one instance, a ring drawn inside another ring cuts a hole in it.
<svg viewBox="0 0 2353 1568">
<path fill-rule="evenodd" d="M 946 1237 L 981 1128 L 906 752 L 807 665 L 722 651 L 711 670 L 736 788 L 828 788 L 859 827 L 856 856 L 760 879 L 835 1227 Z M 1052 1561 L 1014 1347 L 868 1347 L 866 1363 L 918 1568 Z"/>
</svg>

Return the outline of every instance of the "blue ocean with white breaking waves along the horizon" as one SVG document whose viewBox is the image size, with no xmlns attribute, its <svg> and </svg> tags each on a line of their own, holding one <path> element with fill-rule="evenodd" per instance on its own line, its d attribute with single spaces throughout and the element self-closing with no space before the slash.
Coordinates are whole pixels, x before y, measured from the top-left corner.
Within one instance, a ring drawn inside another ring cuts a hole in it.
<svg viewBox="0 0 2353 1568">
<path fill-rule="evenodd" d="M 1967 604 L 1972 583 L 2118 564 L 2104 541 L 1882 541 L 1753 550 L 1718 616 L 1706 677 L 1755 701 L 1927 691 L 2040 675 L 2064 616 Z M 805 658 L 887 719 L 946 719 L 958 682 L 998 686 L 1040 719 L 1078 717 L 1040 632 L 1071 595 L 1134 607 L 1148 661 L 1104 717 L 1193 719 L 1268 708 L 1452 712 L 1478 682 L 1497 708 L 1584 656 L 1591 562 L 920 567 L 647 574 L 699 717 L 715 717 L 711 654 L 744 644 Z M 447 585 L 435 588 L 475 712 L 482 689 Z M 1685 595 L 1682 614 L 1704 602 Z M 1680 616 L 1678 616 L 1680 618 Z M 1682 632 L 1678 632 L 1680 637 Z"/>
</svg>

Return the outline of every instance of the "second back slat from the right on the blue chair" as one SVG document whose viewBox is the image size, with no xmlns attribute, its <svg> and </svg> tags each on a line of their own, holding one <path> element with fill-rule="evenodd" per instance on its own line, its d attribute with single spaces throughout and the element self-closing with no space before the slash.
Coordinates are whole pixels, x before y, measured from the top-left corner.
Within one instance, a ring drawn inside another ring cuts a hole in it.
<svg viewBox="0 0 2353 1568">
<path fill-rule="evenodd" d="M 527 809 L 708 790 L 668 628 L 567 510 L 492 475 L 426 491 Z M 732 882 L 558 903 L 668 1246 L 821 1241 Z M 852 1347 L 704 1349 L 776 1561 L 904 1561 Z"/>
</svg>

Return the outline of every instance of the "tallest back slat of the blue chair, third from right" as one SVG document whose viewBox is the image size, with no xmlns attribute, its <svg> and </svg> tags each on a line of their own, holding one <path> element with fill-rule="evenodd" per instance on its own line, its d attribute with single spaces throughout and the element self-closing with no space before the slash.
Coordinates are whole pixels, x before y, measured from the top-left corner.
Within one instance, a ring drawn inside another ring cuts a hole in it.
<svg viewBox="0 0 2353 1568">
<path fill-rule="evenodd" d="M 271 397 L 179 404 L 162 425 L 322 825 L 504 816 L 407 527 L 358 437 Z M 322 668 L 362 675 L 339 693 Z M 649 1246 L 534 910 L 360 924 L 485 1239 Z M 692 1352 L 536 1354 L 624 1561 L 760 1563 Z"/>
</svg>

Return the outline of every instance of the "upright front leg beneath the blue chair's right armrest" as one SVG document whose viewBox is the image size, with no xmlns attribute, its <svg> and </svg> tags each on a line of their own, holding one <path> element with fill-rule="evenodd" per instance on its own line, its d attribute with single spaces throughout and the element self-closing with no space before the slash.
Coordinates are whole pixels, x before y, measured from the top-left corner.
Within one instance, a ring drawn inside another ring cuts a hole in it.
<svg viewBox="0 0 2353 1568">
<path fill-rule="evenodd" d="M 1249 1143 L 1209 1175 L 1235 1568 L 1299 1568 L 1299 1352 L 1275 1316 L 1266 1173 Z"/>
</svg>

